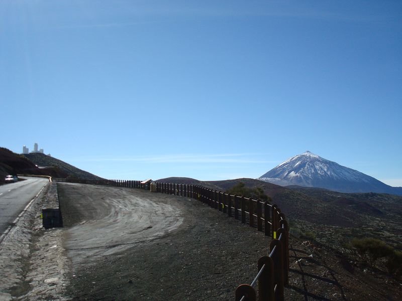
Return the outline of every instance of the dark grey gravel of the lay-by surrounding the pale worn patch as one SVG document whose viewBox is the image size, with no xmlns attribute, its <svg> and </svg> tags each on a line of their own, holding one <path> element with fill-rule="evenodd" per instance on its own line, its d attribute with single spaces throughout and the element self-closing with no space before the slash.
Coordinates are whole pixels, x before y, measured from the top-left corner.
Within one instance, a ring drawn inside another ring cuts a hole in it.
<svg viewBox="0 0 402 301">
<path fill-rule="evenodd" d="M 76 198 L 64 197 L 63 185 L 59 196 L 64 220 L 69 213 L 74 215 L 74 204 L 85 199 L 86 191 L 92 200 L 99 200 L 85 185 L 75 186 Z M 130 194 L 172 206 L 183 222 L 158 239 L 131 244 L 124 252 L 109 250 L 90 265 L 74 264 L 67 292 L 74 300 L 233 300 L 236 287 L 251 283 L 258 258 L 268 252 L 269 239 L 263 233 L 199 201 L 137 189 L 107 189 L 117 198 Z"/>
</svg>

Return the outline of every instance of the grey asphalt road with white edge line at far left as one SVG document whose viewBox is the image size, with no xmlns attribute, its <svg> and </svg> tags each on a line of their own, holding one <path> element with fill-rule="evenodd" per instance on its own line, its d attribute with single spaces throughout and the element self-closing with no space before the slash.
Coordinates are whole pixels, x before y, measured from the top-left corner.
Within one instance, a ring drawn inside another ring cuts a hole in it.
<svg viewBox="0 0 402 301">
<path fill-rule="evenodd" d="M 7 231 L 25 206 L 49 182 L 46 178 L 21 179 L 26 180 L 0 186 L 0 235 Z"/>
</svg>

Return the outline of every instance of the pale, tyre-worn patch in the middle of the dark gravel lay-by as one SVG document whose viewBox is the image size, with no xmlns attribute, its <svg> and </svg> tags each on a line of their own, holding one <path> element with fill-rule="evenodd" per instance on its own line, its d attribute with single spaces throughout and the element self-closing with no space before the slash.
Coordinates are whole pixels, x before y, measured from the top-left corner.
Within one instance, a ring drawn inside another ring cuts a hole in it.
<svg viewBox="0 0 402 301">
<path fill-rule="evenodd" d="M 183 221 L 176 206 L 144 191 L 67 183 L 58 191 L 73 266 L 167 235 Z"/>
</svg>

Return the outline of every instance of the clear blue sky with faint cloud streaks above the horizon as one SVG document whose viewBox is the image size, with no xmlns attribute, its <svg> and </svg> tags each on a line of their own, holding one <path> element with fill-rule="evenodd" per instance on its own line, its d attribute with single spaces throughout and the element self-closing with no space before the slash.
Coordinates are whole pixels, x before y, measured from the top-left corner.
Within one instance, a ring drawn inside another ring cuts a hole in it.
<svg viewBox="0 0 402 301">
<path fill-rule="evenodd" d="M 257 178 L 310 150 L 402 186 L 401 17 L 400 1 L 1 1 L 0 146 L 135 180 Z"/>
</svg>

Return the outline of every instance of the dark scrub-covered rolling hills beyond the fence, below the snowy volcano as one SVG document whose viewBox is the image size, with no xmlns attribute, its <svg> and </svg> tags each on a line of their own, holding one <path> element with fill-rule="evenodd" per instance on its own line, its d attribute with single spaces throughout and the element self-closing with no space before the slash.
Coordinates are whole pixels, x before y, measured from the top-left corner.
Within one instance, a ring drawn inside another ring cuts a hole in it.
<svg viewBox="0 0 402 301">
<path fill-rule="evenodd" d="M 239 182 L 260 187 L 272 198 L 290 223 L 291 233 L 309 235 L 342 250 L 353 237 L 385 237 L 402 250 L 402 197 L 382 193 L 340 193 L 327 189 L 282 187 L 255 179 L 198 181 L 190 178 L 166 178 L 165 183 L 194 184 L 226 191 Z"/>
</svg>

